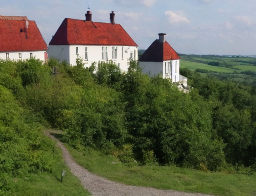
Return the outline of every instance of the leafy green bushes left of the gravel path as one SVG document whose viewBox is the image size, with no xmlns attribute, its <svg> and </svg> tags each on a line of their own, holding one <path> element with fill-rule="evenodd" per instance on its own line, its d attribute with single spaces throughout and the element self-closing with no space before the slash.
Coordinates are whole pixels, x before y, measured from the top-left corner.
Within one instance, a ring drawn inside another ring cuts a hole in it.
<svg viewBox="0 0 256 196">
<path fill-rule="evenodd" d="M 31 121 L 14 96 L 0 85 L 0 195 L 10 177 L 51 171 L 54 163 L 41 126 Z M 50 149 L 51 150 L 51 149 Z M 3 193 L 3 192 L 2 192 Z"/>
</svg>

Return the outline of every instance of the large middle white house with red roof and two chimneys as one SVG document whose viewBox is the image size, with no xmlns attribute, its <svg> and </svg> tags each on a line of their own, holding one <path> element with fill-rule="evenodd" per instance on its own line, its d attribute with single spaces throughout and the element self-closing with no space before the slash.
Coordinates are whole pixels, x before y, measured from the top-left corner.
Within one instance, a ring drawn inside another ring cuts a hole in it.
<svg viewBox="0 0 256 196">
<path fill-rule="evenodd" d="M 63 20 L 49 43 L 49 57 L 71 65 L 76 65 L 76 58 L 82 58 L 86 67 L 113 60 L 126 71 L 129 58 L 138 59 L 138 45 L 121 25 L 115 24 L 115 13 L 110 13 L 110 23 L 93 22 L 90 11 L 85 16 L 86 20 Z"/>
</svg>

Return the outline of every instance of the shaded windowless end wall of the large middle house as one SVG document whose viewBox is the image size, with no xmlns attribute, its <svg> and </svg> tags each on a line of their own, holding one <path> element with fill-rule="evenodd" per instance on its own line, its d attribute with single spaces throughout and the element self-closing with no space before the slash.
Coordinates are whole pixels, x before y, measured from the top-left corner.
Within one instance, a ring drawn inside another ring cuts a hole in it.
<svg viewBox="0 0 256 196">
<path fill-rule="evenodd" d="M 49 45 L 48 57 L 59 59 L 61 62 L 66 60 L 69 63 L 68 45 Z"/>
</svg>

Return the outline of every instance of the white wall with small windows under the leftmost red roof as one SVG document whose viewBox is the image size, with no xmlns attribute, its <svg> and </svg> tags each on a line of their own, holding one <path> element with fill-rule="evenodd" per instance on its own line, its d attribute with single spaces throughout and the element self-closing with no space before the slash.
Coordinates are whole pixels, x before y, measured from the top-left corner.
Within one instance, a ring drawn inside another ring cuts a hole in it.
<svg viewBox="0 0 256 196">
<path fill-rule="evenodd" d="M 6 60 L 6 53 L 9 53 L 10 60 L 19 60 L 19 53 L 21 53 L 21 59 L 30 58 L 30 53 L 32 53 L 33 57 L 36 59 L 40 59 L 44 61 L 44 53 L 46 51 L 16 51 L 16 52 L 0 52 L 0 58 Z"/>
</svg>

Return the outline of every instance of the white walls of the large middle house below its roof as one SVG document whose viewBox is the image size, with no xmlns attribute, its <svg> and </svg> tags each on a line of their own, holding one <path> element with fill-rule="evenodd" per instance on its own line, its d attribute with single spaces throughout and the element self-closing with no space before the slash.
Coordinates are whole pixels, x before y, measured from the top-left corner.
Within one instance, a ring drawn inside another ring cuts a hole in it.
<svg viewBox="0 0 256 196">
<path fill-rule="evenodd" d="M 128 70 L 130 58 L 138 60 L 138 47 L 136 46 L 106 46 L 106 45 L 49 45 L 49 58 L 76 65 L 76 58 L 82 58 L 85 67 L 93 62 L 112 60 L 122 71 Z"/>
</svg>

